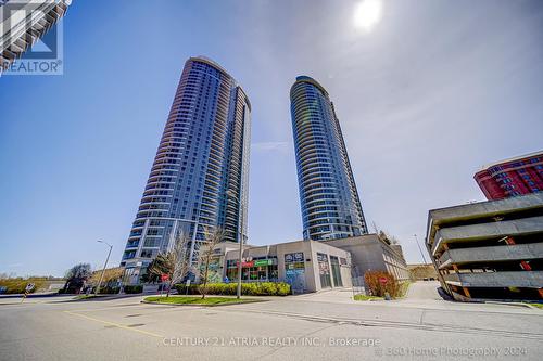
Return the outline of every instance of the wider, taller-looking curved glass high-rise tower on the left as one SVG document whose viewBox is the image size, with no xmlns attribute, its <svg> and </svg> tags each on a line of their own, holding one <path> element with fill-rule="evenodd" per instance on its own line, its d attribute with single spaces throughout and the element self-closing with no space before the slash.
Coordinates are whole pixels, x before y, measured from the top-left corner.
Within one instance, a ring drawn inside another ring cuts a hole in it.
<svg viewBox="0 0 543 361">
<path fill-rule="evenodd" d="M 245 238 L 250 127 L 236 80 L 209 59 L 189 59 L 123 254 L 131 282 L 180 233 L 193 261 L 216 227 L 225 241 Z"/>
</svg>

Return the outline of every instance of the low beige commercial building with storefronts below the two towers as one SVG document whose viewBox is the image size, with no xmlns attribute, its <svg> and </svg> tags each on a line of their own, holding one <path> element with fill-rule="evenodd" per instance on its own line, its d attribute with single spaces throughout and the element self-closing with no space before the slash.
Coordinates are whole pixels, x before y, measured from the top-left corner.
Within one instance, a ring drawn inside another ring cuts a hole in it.
<svg viewBox="0 0 543 361">
<path fill-rule="evenodd" d="M 223 242 L 214 253 L 210 282 L 236 282 L 239 244 Z M 296 294 L 351 287 L 353 282 L 363 286 L 364 273 L 370 270 L 408 279 L 400 245 L 389 245 L 376 234 L 243 247 L 243 282 L 282 281 Z"/>
</svg>

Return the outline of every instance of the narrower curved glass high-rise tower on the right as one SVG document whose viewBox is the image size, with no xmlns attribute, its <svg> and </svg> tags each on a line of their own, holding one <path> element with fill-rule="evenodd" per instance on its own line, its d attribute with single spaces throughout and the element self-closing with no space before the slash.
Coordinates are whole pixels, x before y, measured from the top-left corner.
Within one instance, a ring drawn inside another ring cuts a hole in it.
<svg viewBox="0 0 543 361">
<path fill-rule="evenodd" d="M 304 240 L 367 233 L 351 164 L 328 92 L 300 76 L 290 90 Z"/>
</svg>

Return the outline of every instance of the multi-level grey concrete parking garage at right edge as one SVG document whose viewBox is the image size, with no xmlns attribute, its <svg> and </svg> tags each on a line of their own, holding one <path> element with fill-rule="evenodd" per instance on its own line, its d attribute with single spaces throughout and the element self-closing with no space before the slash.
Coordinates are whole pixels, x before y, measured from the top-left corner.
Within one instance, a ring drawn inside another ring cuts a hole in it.
<svg viewBox="0 0 543 361">
<path fill-rule="evenodd" d="M 430 210 L 426 246 L 457 300 L 543 298 L 543 193 Z"/>
</svg>

